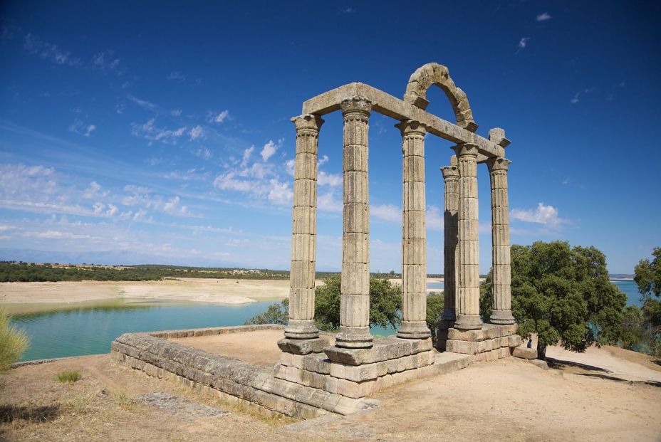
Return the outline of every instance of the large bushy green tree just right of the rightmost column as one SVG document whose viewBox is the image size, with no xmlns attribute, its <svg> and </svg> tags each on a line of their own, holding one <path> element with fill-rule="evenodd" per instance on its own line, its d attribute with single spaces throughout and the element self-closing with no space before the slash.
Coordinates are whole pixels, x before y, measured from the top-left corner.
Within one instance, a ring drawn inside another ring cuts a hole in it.
<svg viewBox="0 0 661 442">
<path fill-rule="evenodd" d="M 566 241 L 511 246 L 512 313 L 519 335 L 538 335 L 537 352 L 558 344 L 583 352 L 620 339 L 626 295 L 608 280 L 605 255 Z M 481 312 L 491 314 L 491 271 L 482 283 Z"/>
</svg>

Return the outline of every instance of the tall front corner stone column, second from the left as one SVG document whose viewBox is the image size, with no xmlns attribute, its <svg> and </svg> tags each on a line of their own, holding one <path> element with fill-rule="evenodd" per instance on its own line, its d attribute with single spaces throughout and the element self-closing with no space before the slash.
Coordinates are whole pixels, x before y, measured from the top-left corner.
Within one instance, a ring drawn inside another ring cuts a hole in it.
<svg viewBox="0 0 661 442">
<path fill-rule="evenodd" d="M 344 208 L 340 332 L 335 345 L 369 348 L 372 335 L 368 131 L 372 103 L 353 97 L 343 100 L 340 107 L 344 117 Z"/>
</svg>

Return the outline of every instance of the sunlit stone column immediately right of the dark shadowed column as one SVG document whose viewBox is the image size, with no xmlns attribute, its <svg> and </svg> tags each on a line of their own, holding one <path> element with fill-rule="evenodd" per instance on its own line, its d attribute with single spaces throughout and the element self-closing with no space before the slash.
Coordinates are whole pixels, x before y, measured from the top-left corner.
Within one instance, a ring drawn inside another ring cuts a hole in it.
<svg viewBox="0 0 661 442">
<path fill-rule="evenodd" d="M 479 317 L 479 237 L 477 216 L 477 146 L 462 143 L 454 147 L 459 169 L 459 211 L 457 226 L 457 322 L 459 330 L 482 328 Z"/>
</svg>

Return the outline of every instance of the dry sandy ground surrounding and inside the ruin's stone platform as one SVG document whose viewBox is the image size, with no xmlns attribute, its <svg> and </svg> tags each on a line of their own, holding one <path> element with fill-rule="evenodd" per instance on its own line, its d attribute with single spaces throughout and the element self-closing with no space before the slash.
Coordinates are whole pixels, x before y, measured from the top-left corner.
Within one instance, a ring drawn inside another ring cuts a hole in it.
<svg viewBox="0 0 661 442">
<path fill-rule="evenodd" d="M 254 364 L 278 358 L 279 331 L 185 338 L 194 347 Z M 241 343 L 243 342 L 243 344 Z M 314 421 L 265 419 L 110 362 L 108 355 L 20 367 L 2 379 L 0 438 L 10 441 L 660 441 L 661 367 L 604 347 L 551 349 L 544 371 L 507 358 L 375 395 L 378 409 Z M 576 358 L 574 358 L 576 357 Z M 575 361 L 573 359 L 576 359 Z M 600 367 L 602 365 L 603 367 Z M 58 384 L 63 369 L 83 379 Z M 625 378 L 635 378 L 636 382 Z M 230 411 L 187 421 L 135 401 L 165 391 Z"/>
</svg>

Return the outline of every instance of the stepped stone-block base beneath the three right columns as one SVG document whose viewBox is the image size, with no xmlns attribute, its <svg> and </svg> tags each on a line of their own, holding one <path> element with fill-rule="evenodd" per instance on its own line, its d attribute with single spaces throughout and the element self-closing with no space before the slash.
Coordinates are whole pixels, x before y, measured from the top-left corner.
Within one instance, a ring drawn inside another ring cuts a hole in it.
<svg viewBox="0 0 661 442">
<path fill-rule="evenodd" d="M 437 348 L 446 352 L 470 354 L 475 361 L 494 361 L 510 356 L 521 345 L 517 324 L 483 324 L 480 330 L 458 330 L 452 323 L 441 322 Z M 449 327 L 444 330 L 443 327 Z M 518 354 L 516 354 L 519 357 Z"/>
</svg>

